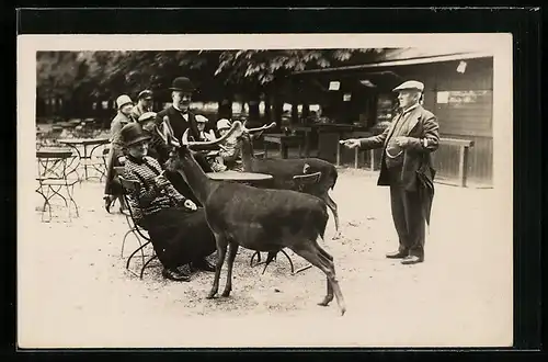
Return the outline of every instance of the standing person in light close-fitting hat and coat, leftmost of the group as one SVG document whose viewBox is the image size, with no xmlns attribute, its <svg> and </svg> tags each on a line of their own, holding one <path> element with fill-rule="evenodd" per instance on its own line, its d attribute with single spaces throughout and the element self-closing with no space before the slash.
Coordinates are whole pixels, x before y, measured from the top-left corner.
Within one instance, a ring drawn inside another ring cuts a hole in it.
<svg viewBox="0 0 548 362">
<path fill-rule="evenodd" d="M 104 205 L 107 213 L 111 213 L 111 206 L 118 200 L 121 205 L 121 212 L 125 208 L 124 199 L 122 197 L 122 186 L 114 174 L 114 167 L 119 166 L 119 157 L 123 156 L 122 148 L 123 144 L 121 140 L 119 132 L 122 128 L 134 122 L 132 117 L 132 111 L 134 109 L 134 102 L 127 94 L 122 94 L 116 99 L 116 106 L 118 112 L 116 116 L 111 122 L 111 149 L 109 150 L 109 162 L 106 165 L 106 181 L 104 189 Z"/>
</svg>

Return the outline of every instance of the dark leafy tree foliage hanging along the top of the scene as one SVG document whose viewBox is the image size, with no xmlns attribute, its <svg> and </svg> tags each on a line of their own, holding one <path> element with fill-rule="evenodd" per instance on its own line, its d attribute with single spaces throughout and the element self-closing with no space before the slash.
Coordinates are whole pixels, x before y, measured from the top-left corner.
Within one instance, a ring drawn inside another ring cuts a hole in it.
<svg viewBox="0 0 548 362">
<path fill-rule="evenodd" d="M 243 49 L 147 52 L 39 52 L 38 97 L 112 99 L 169 88 L 176 76 L 199 82 L 261 88 L 290 71 L 349 64 L 381 49 Z"/>
</svg>

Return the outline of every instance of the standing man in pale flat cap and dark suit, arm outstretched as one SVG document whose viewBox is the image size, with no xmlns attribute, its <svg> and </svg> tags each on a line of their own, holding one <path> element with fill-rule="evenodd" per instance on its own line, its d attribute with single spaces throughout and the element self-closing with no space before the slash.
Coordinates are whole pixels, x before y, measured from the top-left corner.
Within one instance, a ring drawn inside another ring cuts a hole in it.
<svg viewBox="0 0 548 362">
<path fill-rule="evenodd" d="M 378 185 L 390 186 L 392 218 L 398 231 L 399 248 L 388 253 L 402 259 L 402 264 L 424 261 L 425 224 L 434 197 L 431 152 L 439 144 L 436 116 L 421 105 L 424 84 L 407 81 L 393 89 L 399 92 L 401 112 L 378 136 L 346 139 L 349 148 L 383 148 Z"/>
</svg>

